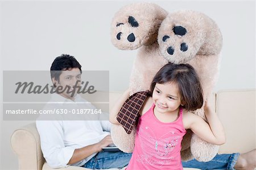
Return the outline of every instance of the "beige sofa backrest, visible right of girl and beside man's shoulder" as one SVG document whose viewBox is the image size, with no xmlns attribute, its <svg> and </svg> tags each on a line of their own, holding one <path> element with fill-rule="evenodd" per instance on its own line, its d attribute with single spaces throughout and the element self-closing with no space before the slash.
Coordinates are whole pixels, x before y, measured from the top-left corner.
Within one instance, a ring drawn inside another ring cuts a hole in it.
<svg viewBox="0 0 256 170">
<path fill-rule="evenodd" d="M 99 97 L 106 97 L 106 92 L 94 94 L 84 97 L 97 108 L 109 112 L 122 92 L 110 93 L 109 105 L 102 105 L 98 101 Z M 214 110 L 220 117 L 226 132 L 226 143 L 220 147 L 219 152 L 246 152 L 256 148 L 255 89 L 220 91 L 214 93 L 212 98 Z"/>
</svg>

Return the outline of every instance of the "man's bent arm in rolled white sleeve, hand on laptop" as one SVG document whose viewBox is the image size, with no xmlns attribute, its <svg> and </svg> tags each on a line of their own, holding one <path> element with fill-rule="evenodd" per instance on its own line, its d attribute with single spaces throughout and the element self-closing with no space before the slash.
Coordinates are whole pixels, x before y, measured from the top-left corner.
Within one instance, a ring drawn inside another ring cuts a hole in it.
<svg viewBox="0 0 256 170">
<path fill-rule="evenodd" d="M 106 136 L 96 144 L 74 149 L 64 145 L 62 121 L 36 121 L 36 127 L 44 158 L 51 168 L 75 164 L 113 143 L 111 137 Z"/>
</svg>

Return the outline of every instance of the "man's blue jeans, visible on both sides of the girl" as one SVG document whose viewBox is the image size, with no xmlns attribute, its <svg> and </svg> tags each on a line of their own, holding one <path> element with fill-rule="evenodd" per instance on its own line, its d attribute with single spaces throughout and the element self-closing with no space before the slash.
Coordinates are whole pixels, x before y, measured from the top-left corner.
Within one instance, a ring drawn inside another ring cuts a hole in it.
<svg viewBox="0 0 256 170">
<path fill-rule="evenodd" d="M 196 159 L 189 161 L 182 161 L 184 168 L 198 168 L 198 169 L 234 169 L 239 153 L 235 154 L 220 154 L 213 157 L 208 162 L 200 162 Z M 123 168 L 128 165 L 131 159 L 131 154 L 124 152 L 98 152 L 82 167 L 90 169 L 108 169 L 108 168 Z"/>
</svg>

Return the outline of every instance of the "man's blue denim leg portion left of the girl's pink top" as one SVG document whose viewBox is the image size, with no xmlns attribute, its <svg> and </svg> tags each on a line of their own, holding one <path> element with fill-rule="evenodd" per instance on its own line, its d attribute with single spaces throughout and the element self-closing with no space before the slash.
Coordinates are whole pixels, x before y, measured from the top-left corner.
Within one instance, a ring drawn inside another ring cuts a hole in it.
<svg viewBox="0 0 256 170">
<path fill-rule="evenodd" d="M 90 169 L 123 168 L 128 165 L 131 154 L 120 152 L 98 152 L 83 167 Z"/>
</svg>

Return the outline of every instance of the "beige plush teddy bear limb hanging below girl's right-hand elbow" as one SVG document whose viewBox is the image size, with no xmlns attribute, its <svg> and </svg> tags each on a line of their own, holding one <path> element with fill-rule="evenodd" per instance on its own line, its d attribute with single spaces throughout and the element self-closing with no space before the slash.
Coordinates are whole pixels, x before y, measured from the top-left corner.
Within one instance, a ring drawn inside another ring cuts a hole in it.
<svg viewBox="0 0 256 170">
<path fill-rule="evenodd" d="M 210 161 L 216 156 L 218 146 L 206 142 L 199 138 L 196 134 L 192 134 L 191 138 L 191 153 L 198 161 Z"/>
</svg>

